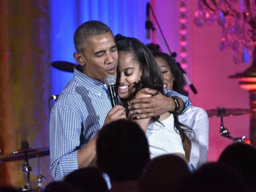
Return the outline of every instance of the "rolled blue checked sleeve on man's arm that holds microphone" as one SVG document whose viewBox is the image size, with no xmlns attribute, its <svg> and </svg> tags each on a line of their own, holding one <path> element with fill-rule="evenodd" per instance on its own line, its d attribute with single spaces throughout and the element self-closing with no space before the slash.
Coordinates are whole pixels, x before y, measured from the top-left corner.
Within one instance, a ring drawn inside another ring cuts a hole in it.
<svg viewBox="0 0 256 192">
<path fill-rule="evenodd" d="M 78 169 L 81 119 L 68 107 L 54 106 L 50 116 L 50 172 L 55 180 Z"/>
</svg>

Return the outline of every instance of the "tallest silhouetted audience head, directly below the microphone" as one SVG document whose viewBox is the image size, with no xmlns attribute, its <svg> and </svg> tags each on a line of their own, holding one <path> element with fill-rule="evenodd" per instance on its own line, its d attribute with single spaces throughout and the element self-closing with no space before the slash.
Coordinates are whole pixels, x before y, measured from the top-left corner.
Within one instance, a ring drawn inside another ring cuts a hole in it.
<svg viewBox="0 0 256 192">
<path fill-rule="evenodd" d="M 112 122 L 99 131 L 96 153 L 97 164 L 111 182 L 137 180 L 149 160 L 144 132 L 127 120 Z"/>
</svg>

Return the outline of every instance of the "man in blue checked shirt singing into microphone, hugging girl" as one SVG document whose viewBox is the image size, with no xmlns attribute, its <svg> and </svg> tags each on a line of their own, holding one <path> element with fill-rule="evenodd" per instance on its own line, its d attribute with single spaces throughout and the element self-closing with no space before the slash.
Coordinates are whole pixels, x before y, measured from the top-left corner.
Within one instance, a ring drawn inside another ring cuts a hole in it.
<svg viewBox="0 0 256 192">
<path fill-rule="evenodd" d="M 81 167 L 95 164 L 97 132 L 110 122 L 126 119 L 121 105 L 111 107 L 108 75 L 116 76 L 118 53 L 111 29 L 99 21 L 88 21 L 76 29 L 74 58 L 79 63 L 52 108 L 50 116 L 50 172 L 55 180 Z M 153 90 L 147 90 L 154 94 Z M 175 92 L 167 92 L 175 96 Z M 178 93 L 176 95 L 179 95 Z M 179 95 L 190 107 L 187 97 Z M 134 99 L 132 112 L 137 118 L 158 116 L 166 111 L 183 110 L 183 102 L 162 94 Z M 183 110 L 183 111 L 185 111 Z"/>
</svg>

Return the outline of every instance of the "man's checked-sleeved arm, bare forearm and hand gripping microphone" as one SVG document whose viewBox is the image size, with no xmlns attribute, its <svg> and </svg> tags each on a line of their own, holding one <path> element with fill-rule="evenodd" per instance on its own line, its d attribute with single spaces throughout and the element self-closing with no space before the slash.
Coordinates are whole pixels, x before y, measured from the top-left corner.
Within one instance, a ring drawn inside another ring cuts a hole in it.
<svg viewBox="0 0 256 192">
<path fill-rule="evenodd" d="M 126 118 L 125 110 L 117 105 L 108 113 L 105 123 Z M 76 169 L 90 166 L 96 157 L 97 134 L 80 147 L 81 118 L 68 107 L 54 106 L 50 116 L 50 171 L 55 180 Z"/>
</svg>

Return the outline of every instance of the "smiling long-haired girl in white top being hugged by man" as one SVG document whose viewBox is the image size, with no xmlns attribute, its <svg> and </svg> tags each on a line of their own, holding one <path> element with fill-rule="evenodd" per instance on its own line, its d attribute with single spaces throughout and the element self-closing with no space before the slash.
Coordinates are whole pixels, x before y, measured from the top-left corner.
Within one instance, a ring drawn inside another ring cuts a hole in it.
<svg viewBox="0 0 256 192">
<path fill-rule="evenodd" d="M 148 119 L 136 119 L 129 115 L 128 106 L 131 99 L 152 96 L 144 88 L 154 89 L 157 93 L 164 94 L 163 80 L 153 55 L 142 42 L 122 35 L 116 35 L 115 41 L 119 53 L 118 95 L 127 109 L 128 118 L 137 122 L 145 132 L 150 157 L 176 154 L 188 162 L 183 149 L 186 130 L 180 127 L 175 114 L 166 112 L 161 116 Z"/>
</svg>

